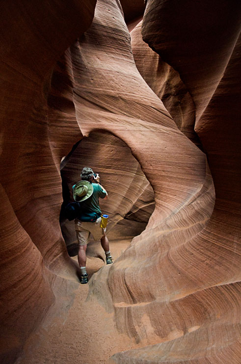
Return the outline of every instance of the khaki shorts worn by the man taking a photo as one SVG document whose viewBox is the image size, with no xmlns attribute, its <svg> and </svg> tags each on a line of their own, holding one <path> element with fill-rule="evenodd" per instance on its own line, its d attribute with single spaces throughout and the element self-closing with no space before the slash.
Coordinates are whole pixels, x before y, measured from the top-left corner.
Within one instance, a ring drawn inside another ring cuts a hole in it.
<svg viewBox="0 0 241 364">
<path fill-rule="evenodd" d="M 75 230 L 79 245 L 86 245 L 89 243 L 90 234 L 93 235 L 94 240 L 100 240 L 106 232 L 106 228 L 101 228 L 101 217 L 95 222 L 75 220 Z"/>
</svg>

